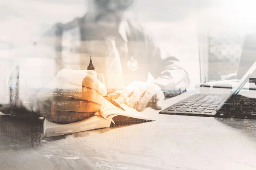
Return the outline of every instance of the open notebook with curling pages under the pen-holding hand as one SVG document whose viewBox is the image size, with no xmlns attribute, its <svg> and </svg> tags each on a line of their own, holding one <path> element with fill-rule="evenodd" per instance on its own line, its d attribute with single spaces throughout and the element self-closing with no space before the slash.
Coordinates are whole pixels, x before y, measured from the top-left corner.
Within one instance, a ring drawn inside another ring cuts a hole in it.
<svg viewBox="0 0 256 170">
<path fill-rule="evenodd" d="M 115 124 L 117 122 L 119 124 L 135 124 L 154 121 L 154 119 L 147 117 L 145 113 L 138 112 L 127 105 L 121 106 L 125 111 L 106 100 L 104 107 L 102 107 L 104 109 L 101 111 L 96 112 L 87 119 L 69 124 L 58 124 L 44 119 L 44 136 L 59 136 L 68 133 L 107 128 L 111 126 L 111 123 Z"/>
</svg>

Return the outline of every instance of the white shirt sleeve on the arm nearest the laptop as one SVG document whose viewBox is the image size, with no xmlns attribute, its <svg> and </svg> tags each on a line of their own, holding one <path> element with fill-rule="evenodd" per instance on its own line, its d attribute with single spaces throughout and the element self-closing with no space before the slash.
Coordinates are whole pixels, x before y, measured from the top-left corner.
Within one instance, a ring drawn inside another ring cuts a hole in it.
<svg viewBox="0 0 256 170">
<path fill-rule="evenodd" d="M 181 62 L 170 56 L 156 44 L 152 37 L 147 36 L 149 69 L 155 78 L 154 83 L 162 89 L 184 89 L 189 86 L 189 75 L 181 66 Z"/>
</svg>

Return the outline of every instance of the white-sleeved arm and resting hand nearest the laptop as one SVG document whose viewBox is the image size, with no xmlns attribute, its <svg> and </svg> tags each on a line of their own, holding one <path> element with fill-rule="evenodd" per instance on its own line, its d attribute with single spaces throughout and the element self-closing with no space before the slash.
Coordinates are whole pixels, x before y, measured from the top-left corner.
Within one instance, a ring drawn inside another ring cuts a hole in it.
<svg viewBox="0 0 256 170">
<path fill-rule="evenodd" d="M 154 81 L 153 83 L 132 82 L 124 90 L 116 92 L 119 95 L 116 101 L 136 108 L 137 111 L 143 111 L 148 102 L 155 101 L 156 108 L 162 109 L 164 94 L 161 89 L 185 88 L 190 83 L 189 76 L 180 66 L 180 61 L 170 57 L 163 48 L 156 45 L 154 40 L 145 34 L 143 28 L 136 27 L 135 31 L 132 30 L 136 42 L 143 42 L 146 47 L 144 60 L 148 64 L 148 70 L 154 77 Z"/>
</svg>

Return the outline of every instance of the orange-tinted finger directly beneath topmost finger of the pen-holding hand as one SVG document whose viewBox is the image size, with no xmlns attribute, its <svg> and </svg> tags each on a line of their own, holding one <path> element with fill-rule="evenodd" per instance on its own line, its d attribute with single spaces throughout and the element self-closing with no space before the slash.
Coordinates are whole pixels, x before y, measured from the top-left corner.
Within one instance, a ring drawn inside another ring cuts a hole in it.
<svg viewBox="0 0 256 170">
<path fill-rule="evenodd" d="M 102 105 L 105 102 L 104 96 L 99 94 L 95 89 L 83 87 L 82 99 Z"/>
</svg>

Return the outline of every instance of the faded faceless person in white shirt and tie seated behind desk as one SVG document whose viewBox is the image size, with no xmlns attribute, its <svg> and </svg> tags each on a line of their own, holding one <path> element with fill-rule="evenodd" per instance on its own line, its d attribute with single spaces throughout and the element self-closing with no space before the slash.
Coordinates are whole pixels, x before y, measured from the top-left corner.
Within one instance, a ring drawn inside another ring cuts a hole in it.
<svg viewBox="0 0 256 170">
<path fill-rule="evenodd" d="M 88 12 L 83 17 L 56 23 L 35 46 L 55 58 L 58 80 L 72 84 L 67 72 L 81 75 L 81 71 L 74 70 L 83 70 L 86 77 L 92 54 L 97 74 L 93 81 L 104 84 L 108 94 L 119 95 L 117 102 L 143 111 L 150 99 L 156 97 L 156 108 L 162 109 L 161 89 L 186 88 L 189 76 L 176 57 L 169 56 L 143 27 L 128 19 L 133 1 L 89 0 Z M 100 100 L 93 101 L 95 105 L 101 104 Z"/>
</svg>

